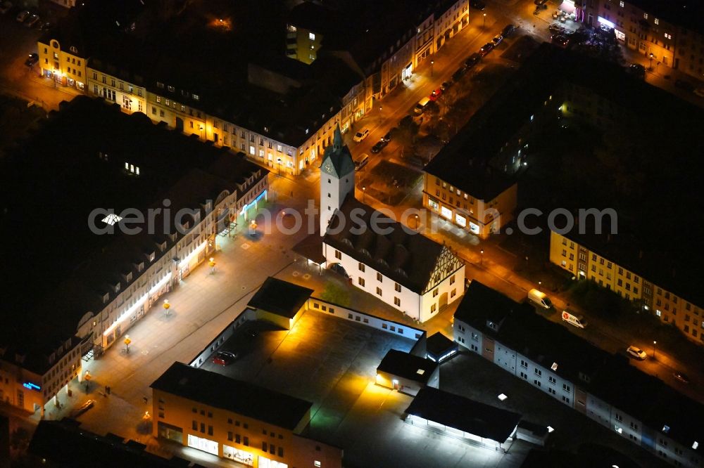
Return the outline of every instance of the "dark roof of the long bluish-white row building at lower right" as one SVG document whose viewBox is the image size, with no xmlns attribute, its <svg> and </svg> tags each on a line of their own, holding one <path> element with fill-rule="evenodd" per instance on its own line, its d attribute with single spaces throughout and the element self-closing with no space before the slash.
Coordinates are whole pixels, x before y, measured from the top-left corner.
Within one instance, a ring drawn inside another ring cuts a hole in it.
<svg viewBox="0 0 704 468">
<path fill-rule="evenodd" d="M 472 285 L 477 280 L 472 281 Z M 470 290 L 472 285 L 470 285 Z M 484 286 L 486 288 L 486 286 Z M 496 293 L 498 294 L 498 293 Z M 463 301 L 472 298 L 468 290 Z M 460 308 L 462 304 L 460 304 Z M 505 314 L 498 331 L 486 326 L 490 320 L 484 309 L 475 307 L 455 319 L 477 327 L 536 363 L 557 368 L 555 374 L 579 384 L 589 393 L 641 420 L 655 431 L 670 427 L 668 436 L 691 448 L 704 440 L 704 405 L 691 401 L 660 379 L 629 365 L 625 356 L 611 355 L 567 330 L 565 326 L 535 313 L 529 304 Z M 496 316 L 489 312 L 491 317 Z M 589 382 L 580 377 L 589 378 Z M 701 446 L 697 450 L 704 450 Z"/>
</svg>

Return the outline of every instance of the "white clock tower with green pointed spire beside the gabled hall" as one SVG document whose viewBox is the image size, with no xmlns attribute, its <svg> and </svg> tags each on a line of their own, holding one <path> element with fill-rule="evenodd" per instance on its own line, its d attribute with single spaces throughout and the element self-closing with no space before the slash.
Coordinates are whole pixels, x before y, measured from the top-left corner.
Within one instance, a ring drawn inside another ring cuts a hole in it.
<svg viewBox="0 0 704 468">
<path fill-rule="evenodd" d="M 325 235 L 332 215 L 350 193 L 354 196 L 354 162 L 349 148 L 342 143 L 338 124 L 332 145 L 325 148 L 320 164 L 320 235 Z"/>
</svg>

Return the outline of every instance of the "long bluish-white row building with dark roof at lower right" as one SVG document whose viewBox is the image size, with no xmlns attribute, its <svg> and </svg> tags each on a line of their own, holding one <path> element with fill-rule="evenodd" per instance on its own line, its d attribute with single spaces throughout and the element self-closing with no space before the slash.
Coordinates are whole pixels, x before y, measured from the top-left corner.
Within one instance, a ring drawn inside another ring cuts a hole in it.
<svg viewBox="0 0 704 468">
<path fill-rule="evenodd" d="M 665 462 L 701 467 L 704 407 L 660 379 L 473 280 L 454 316 L 461 347 Z"/>
</svg>

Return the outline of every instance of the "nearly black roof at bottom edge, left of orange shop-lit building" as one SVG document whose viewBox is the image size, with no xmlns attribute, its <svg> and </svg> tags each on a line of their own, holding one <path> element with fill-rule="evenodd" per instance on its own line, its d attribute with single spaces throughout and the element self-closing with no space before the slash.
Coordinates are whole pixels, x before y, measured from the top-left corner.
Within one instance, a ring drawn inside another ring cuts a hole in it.
<svg viewBox="0 0 704 468">
<path fill-rule="evenodd" d="M 30 441 L 30 455 L 44 458 L 51 467 L 93 468 L 166 468 L 180 466 L 177 460 L 166 460 L 147 453 L 143 444 L 124 442 L 114 434 L 99 436 L 73 420 L 39 421 Z M 100 462 L 96 463 L 96 457 Z"/>
</svg>

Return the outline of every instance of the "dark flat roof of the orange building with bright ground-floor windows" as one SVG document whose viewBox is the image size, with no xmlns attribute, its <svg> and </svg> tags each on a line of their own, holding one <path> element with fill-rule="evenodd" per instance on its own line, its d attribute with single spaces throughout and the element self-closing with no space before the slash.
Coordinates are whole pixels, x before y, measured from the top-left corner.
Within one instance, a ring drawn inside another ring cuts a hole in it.
<svg viewBox="0 0 704 468">
<path fill-rule="evenodd" d="M 294 396 L 183 363 L 173 363 L 151 388 L 291 430 L 313 406 Z"/>
</svg>

